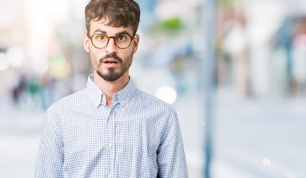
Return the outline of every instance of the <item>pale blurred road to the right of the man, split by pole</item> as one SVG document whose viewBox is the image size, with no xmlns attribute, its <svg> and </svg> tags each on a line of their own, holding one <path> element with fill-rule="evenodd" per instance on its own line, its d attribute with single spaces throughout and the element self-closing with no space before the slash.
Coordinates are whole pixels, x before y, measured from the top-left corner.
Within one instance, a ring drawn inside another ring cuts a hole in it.
<svg viewBox="0 0 306 178">
<path fill-rule="evenodd" d="M 199 95 L 174 104 L 180 117 L 190 177 L 201 177 Z M 247 99 L 219 90 L 215 119 L 213 177 L 306 177 L 306 100 Z"/>
</svg>

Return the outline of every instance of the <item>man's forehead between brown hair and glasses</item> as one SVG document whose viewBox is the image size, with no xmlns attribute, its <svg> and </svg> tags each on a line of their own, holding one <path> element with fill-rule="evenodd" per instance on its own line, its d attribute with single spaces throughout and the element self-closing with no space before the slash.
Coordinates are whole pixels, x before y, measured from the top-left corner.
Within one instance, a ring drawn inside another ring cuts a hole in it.
<svg viewBox="0 0 306 178">
<path fill-rule="evenodd" d="M 118 32 L 127 31 L 130 33 L 130 35 L 133 35 L 133 29 L 132 27 L 113 27 L 108 26 L 109 23 L 108 19 L 102 18 L 100 20 L 94 19 L 90 20 L 90 34 L 93 35 L 93 33 L 97 32 L 104 32 L 107 35 L 114 35 Z"/>
</svg>

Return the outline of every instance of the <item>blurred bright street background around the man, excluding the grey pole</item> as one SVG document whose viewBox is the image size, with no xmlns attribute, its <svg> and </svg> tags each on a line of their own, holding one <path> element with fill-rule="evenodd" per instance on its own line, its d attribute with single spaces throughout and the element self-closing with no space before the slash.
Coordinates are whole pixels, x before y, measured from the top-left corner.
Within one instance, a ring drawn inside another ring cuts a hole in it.
<svg viewBox="0 0 306 178">
<path fill-rule="evenodd" d="M 0 177 L 34 176 L 46 109 L 93 72 L 82 41 L 88 2 L 0 0 Z M 137 2 L 130 74 L 176 109 L 190 177 L 204 177 L 207 119 L 210 177 L 306 177 L 306 1 L 216 0 L 213 44 L 201 0 Z M 209 45 L 215 59 L 203 58 Z M 215 61 L 211 118 L 203 60 Z"/>
</svg>

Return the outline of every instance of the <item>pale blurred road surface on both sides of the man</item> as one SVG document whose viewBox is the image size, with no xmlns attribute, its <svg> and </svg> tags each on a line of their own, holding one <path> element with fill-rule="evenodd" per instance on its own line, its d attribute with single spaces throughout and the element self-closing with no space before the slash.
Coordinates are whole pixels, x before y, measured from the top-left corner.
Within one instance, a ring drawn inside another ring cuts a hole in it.
<svg viewBox="0 0 306 178">
<path fill-rule="evenodd" d="M 199 95 L 179 95 L 180 118 L 190 177 L 201 177 Z M 2 103 L 4 104 L 4 103 Z M 213 177 L 306 177 L 305 99 L 245 99 L 218 91 Z M 33 177 L 43 112 L 1 105 L 0 177 Z"/>
</svg>

